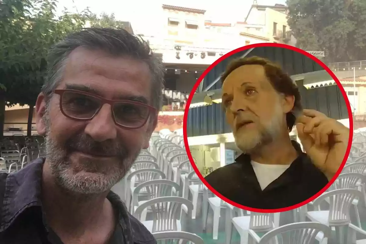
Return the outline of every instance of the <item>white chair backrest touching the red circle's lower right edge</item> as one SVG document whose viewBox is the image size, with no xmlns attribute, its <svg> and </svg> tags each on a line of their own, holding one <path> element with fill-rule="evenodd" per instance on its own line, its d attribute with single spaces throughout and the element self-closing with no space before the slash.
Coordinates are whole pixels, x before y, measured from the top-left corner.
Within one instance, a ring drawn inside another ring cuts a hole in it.
<svg viewBox="0 0 366 244">
<path fill-rule="evenodd" d="M 351 223 L 350 208 L 355 198 L 362 199 L 362 192 L 355 189 L 337 189 L 325 192 L 314 200 L 313 206 L 317 207 L 329 198 L 329 226 L 346 225 Z"/>
</svg>

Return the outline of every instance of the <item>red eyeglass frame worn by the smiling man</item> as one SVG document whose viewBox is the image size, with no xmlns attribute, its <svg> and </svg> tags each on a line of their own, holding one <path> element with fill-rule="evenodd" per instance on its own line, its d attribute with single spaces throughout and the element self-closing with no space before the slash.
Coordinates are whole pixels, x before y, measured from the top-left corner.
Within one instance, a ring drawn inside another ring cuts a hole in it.
<svg viewBox="0 0 366 244">
<path fill-rule="evenodd" d="M 98 100 L 101 101 L 101 106 L 100 108 L 94 113 L 93 116 L 91 116 L 90 118 L 86 118 L 86 119 L 82 119 L 82 118 L 74 118 L 74 117 L 71 117 L 71 116 L 68 116 L 63 108 L 62 108 L 62 98 L 63 98 L 63 94 L 65 92 L 72 92 L 72 93 L 78 93 L 78 94 L 83 94 L 83 95 L 87 95 L 87 96 L 90 96 L 90 97 L 94 97 L 94 98 L 97 98 Z M 102 108 L 102 106 L 104 104 L 109 104 L 111 105 L 111 111 L 112 111 L 112 118 L 113 118 L 113 121 L 115 122 L 116 125 L 120 126 L 120 127 L 124 127 L 124 128 L 128 128 L 128 129 L 138 129 L 138 128 L 141 128 L 143 127 L 147 120 L 149 120 L 149 117 L 152 113 L 157 113 L 157 109 L 150 106 L 150 105 L 147 105 L 147 104 L 144 104 L 142 102 L 135 102 L 135 101 L 131 101 L 131 100 L 110 100 L 110 99 L 107 99 L 107 98 L 104 98 L 104 97 L 101 97 L 99 95 L 95 95 L 93 93 L 89 93 L 87 91 L 79 91 L 79 90 L 72 90 L 72 89 L 55 89 L 53 90 L 53 93 L 57 94 L 57 95 L 60 95 L 60 110 L 61 110 L 61 113 L 70 118 L 70 119 L 73 119 L 73 120 L 78 120 L 78 121 L 88 121 L 88 120 L 92 120 L 94 118 L 94 116 L 96 116 L 96 114 L 100 111 L 100 109 Z M 143 106 L 143 107 L 146 107 L 149 109 L 149 115 L 146 117 L 144 123 L 142 125 L 140 125 L 139 127 L 129 127 L 129 126 L 126 126 L 126 125 L 121 125 L 121 124 L 118 124 L 117 121 L 116 121 L 116 118 L 115 118 L 115 114 L 113 112 L 113 104 L 115 104 L 116 102 L 124 102 L 124 103 L 129 103 L 129 104 L 136 104 L 136 105 L 139 105 L 139 106 Z"/>
</svg>

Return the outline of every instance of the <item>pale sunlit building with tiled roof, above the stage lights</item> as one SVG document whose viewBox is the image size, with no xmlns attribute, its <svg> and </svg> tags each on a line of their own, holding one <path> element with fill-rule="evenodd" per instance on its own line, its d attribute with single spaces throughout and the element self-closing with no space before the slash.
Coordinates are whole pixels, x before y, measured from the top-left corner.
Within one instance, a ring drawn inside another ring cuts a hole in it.
<svg viewBox="0 0 366 244">
<path fill-rule="evenodd" d="M 213 23 L 205 10 L 171 5 L 157 15 L 156 33 L 144 36 L 166 64 L 210 65 L 244 45 L 268 42 L 265 31 L 246 33 L 245 22 Z"/>
</svg>

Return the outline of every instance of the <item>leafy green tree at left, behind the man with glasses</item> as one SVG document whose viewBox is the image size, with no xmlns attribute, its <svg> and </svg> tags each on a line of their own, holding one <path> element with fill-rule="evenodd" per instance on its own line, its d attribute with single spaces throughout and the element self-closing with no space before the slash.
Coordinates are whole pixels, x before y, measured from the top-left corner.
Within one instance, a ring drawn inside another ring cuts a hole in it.
<svg viewBox="0 0 366 244">
<path fill-rule="evenodd" d="M 0 138 L 5 106 L 29 105 L 27 135 L 31 133 L 33 108 L 46 74 L 48 49 L 65 35 L 90 26 L 123 27 L 114 15 L 101 18 L 86 9 L 56 16 L 56 0 L 0 0 Z M 4 90 L 2 90 L 4 93 Z M 5 102 L 6 101 L 6 102 Z"/>
</svg>

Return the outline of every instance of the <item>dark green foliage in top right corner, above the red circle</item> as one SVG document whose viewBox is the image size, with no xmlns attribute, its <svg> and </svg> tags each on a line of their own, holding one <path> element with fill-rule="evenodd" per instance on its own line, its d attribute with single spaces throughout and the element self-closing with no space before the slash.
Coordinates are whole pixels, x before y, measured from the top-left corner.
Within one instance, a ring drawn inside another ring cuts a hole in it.
<svg viewBox="0 0 366 244">
<path fill-rule="evenodd" d="M 364 60 L 365 0 L 287 0 L 296 46 L 324 51 L 326 62 Z"/>
</svg>

